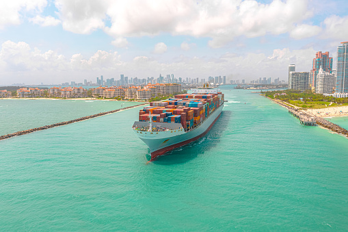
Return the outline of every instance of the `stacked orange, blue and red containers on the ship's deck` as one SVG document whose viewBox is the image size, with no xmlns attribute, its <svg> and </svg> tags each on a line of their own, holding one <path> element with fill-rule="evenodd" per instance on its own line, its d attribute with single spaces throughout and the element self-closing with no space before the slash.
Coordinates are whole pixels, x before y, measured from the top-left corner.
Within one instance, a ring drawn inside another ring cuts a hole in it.
<svg viewBox="0 0 348 232">
<path fill-rule="evenodd" d="M 224 102 L 224 94 L 178 94 L 174 99 L 151 102 L 139 112 L 139 121 L 154 123 L 181 123 L 192 129 L 209 117 Z"/>
</svg>

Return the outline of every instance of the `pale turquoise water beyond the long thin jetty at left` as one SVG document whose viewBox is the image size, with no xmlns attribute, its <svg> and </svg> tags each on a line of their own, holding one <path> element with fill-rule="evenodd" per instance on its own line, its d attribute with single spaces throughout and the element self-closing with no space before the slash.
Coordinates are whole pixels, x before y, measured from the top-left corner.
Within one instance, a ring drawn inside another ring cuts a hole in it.
<svg viewBox="0 0 348 232">
<path fill-rule="evenodd" d="M 0 99 L 0 136 L 113 109 L 137 105 L 128 101 Z"/>
</svg>

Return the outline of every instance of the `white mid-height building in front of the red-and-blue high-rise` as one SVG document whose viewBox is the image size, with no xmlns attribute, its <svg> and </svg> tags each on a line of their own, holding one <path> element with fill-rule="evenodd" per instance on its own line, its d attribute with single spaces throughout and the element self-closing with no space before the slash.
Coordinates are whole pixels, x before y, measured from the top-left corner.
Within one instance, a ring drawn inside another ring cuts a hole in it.
<svg viewBox="0 0 348 232">
<path fill-rule="evenodd" d="M 323 68 L 319 69 L 316 82 L 317 86 L 315 86 L 315 92 L 317 94 L 332 93 L 336 85 L 334 74 L 325 72 Z"/>
</svg>

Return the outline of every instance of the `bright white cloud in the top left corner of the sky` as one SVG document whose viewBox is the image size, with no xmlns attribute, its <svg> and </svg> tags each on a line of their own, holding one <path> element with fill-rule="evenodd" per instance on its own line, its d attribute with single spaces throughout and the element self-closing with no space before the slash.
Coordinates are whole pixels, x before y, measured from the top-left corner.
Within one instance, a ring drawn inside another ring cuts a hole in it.
<svg viewBox="0 0 348 232">
<path fill-rule="evenodd" d="M 42 12 L 46 5 L 46 0 L 0 1 L 0 29 L 20 24 L 22 18 L 20 12 Z"/>
</svg>

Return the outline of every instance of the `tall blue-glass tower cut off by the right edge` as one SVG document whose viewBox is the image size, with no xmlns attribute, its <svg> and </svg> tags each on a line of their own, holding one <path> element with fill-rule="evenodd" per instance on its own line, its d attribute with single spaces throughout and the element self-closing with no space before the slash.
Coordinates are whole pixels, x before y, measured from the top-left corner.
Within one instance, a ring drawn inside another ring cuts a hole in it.
<svg viewBox="0 0 348 232">
<path fill-rule="evenodd" d="M 341 42 L 337 48 L 336 92 L 348 92 L 348 42 Z"/>
</svg>

